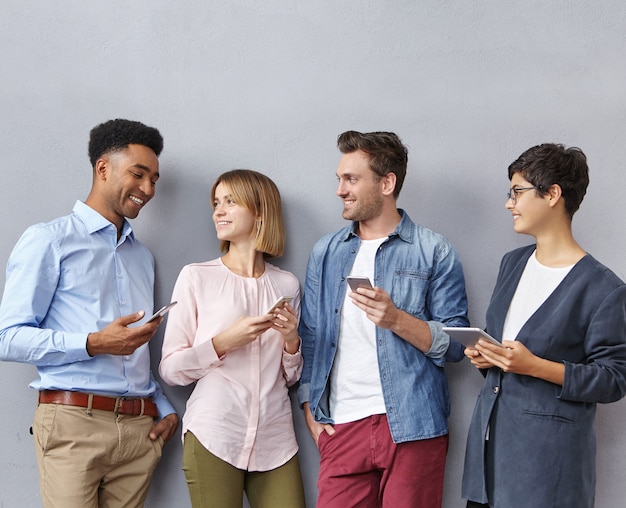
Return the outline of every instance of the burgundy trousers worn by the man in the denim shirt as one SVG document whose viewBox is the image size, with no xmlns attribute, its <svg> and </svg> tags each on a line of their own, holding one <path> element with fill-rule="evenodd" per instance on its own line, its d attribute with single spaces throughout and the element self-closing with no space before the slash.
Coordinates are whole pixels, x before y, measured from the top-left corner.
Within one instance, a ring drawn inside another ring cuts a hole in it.
<svg viewBox="0 0 626 508">
<path fill-rule="evenodd" d="M 386 415 L 335 425 L 318 441 L 317 508 L 440 508 L 448 435 L 395 444 Z"/>
</svg>

